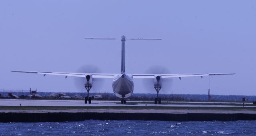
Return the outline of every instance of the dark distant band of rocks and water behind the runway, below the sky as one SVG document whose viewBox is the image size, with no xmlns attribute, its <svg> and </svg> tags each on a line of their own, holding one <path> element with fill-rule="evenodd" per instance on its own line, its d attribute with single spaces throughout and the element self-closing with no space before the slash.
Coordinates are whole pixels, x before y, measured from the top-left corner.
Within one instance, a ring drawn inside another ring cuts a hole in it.
<svg viewBox="0 0 256 136">
<path fill-rule="evenodd" d="M 8 93 L 12 93 L 12 96 L 8 96 Z M 66 93 L 53 93 L 53 92 L 40 92 L 31 94 L 30 92 L 17 92 L 17 91 L 5 91 L 0 92 L 0 99 L 46 99 L 46 100 L 84 100 L 86 93 L 66 92 Z M 120 100 L 113 93 L 90 93 L 90 97 L 95 100 Z M 196 94 L 159 94 L 162 101 L 209 101 L 208 95 L 196 95 Z M 154 101 L 156 94 L 154 93 L 134 93 L 131 97 L 128 97 L 128 101 Z M 245 98 L 246 102 L 256 101 L 256 96 L 248 95 L 211 95 L 210 101 L 227 101 L 227 102 L 242 102 L 242 98 Z"/>
</svg>

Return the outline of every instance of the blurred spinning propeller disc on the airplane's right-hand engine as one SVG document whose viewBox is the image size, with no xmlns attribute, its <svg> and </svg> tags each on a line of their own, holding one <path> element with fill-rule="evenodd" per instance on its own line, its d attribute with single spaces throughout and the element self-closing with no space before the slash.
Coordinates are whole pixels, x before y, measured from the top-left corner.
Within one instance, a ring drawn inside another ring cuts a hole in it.
<svg viewBox="0 0 256 136">
<path fill-rule="evenodd" d="M 170 74 L 170 70 L 161 65 L 154 65 L 146 69 L 145 74 Z M 161 93 L 170 93 L 172 87 L 172 78 L 161 79 L 162 80 L 162 89 Z M 154 89 L 154 79 L 143 79 L 142 81 L 144 88 L 149 92 L 156 91 Z"/>
</svg>

